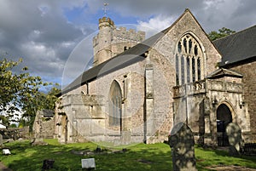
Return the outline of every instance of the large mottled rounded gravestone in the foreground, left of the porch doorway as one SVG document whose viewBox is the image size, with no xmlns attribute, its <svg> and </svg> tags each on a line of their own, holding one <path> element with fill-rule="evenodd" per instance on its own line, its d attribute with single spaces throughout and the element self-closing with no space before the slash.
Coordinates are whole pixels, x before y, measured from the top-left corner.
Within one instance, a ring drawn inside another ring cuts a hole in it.
<svg viewBox="0 0 256 171">
<path fill-rule="evenodd" d="M 195 171 L 195 140 L 185 123 L 177 123 L 169 136 L 172 149 L 172 166 L 175 171 Z"/>
</svg>

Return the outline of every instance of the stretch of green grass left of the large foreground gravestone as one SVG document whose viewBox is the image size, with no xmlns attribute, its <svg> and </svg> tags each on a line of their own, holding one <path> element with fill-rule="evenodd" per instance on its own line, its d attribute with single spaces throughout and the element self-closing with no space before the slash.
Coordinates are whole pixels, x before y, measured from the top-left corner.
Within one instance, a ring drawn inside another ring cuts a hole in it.
<svg viewBox="0 0 256 171">
<path fill-rule="evenodd" d="M 50 170 L 82 170 L 81 159 L 94 157 L 96 170 L 172 170 L 170 147 L 164 144 L 135 145 L 124 153 L 102 153 L 91 156 L 75 155 L 72 151 L 93 151 L 91 143 L 73 145 L 32 146 L 29 142 L 9 145 L 12 155 L 1 160 L 15 171 L 42 170 L 44 159 L 55 160 Z"/>
</svg>

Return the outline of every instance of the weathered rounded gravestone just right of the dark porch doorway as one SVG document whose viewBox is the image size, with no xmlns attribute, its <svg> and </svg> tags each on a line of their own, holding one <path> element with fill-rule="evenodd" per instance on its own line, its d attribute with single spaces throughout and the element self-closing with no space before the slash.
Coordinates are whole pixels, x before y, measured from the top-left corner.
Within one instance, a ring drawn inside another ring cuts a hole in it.
<svg viewBox="0 0 256 171">
<path fill-rule="evenodd" d="M 241 128 L 236 123 L 229 123 L 226 128 L 226 133 L 230 143 L 230 155 L 239 155 L 241 148 Z"/>
</svg>

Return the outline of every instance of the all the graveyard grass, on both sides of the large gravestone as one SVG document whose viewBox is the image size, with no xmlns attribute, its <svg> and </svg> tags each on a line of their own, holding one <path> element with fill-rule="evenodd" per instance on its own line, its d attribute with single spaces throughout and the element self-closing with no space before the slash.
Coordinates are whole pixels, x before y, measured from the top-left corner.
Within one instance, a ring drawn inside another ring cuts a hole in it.
<svg viewBox="0 0 256 171">
<path fill-rule="evenodd" d="M 15 171 L 42 170 L 44 159 L 55 160 L 54 168 L 50 170 L 82 170 L 81 159 L 93 157 L 96 160 L 96 170 L 104 171 L 143 171 L 143 170 L 172 170 L 172 157 L 169 145 L 131 145 L 125 147 L 124 153 L 104 153 L 91 156 L 73 154 L 72 151 L 95 151 L 93 143 L 78 143 L 60 145 L 57 140 L 45 140 L 48 145 L 30 145 L 30 141 L 16 141 L 5 144 L 11 155 L 1 155 L 3 164 Z M 117 151 L 101 146 L 106 151 Z M 119 150 L 124 148 L 120 147 Z M 230 157 L 227 151 L 195 148 L 196 167 L 207 170 L 206 167 L 216 165 L 236 165 L 256 168 L 256 157 Z"/>
</svg>

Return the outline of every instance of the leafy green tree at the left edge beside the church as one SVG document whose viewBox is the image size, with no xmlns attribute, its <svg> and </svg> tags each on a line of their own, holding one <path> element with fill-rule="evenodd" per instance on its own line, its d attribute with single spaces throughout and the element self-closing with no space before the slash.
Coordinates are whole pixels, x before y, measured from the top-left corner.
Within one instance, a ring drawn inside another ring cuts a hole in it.
<svg viewBox="0 0 256 171">
<path fill-rule="evenodd" d="M 22 59 L 0 60 L 0 113 L 5 114 L 9 124 L 18 122 L 18 112 L 22 111 L 22 117 L 26 117 L 27 124 L 32 126 L 38 110 L 54 108 L 57 100 L 54 93 L 57 93 L 58 89 L 53 83 L 44 83 L 41 77 L 31 76 L 26 66 L 20 72 L 15 72 L 14 69 L 21 62 Z M 40 91 L 46 86 L 53 86 L 49 94 Z"/>
</svg>

